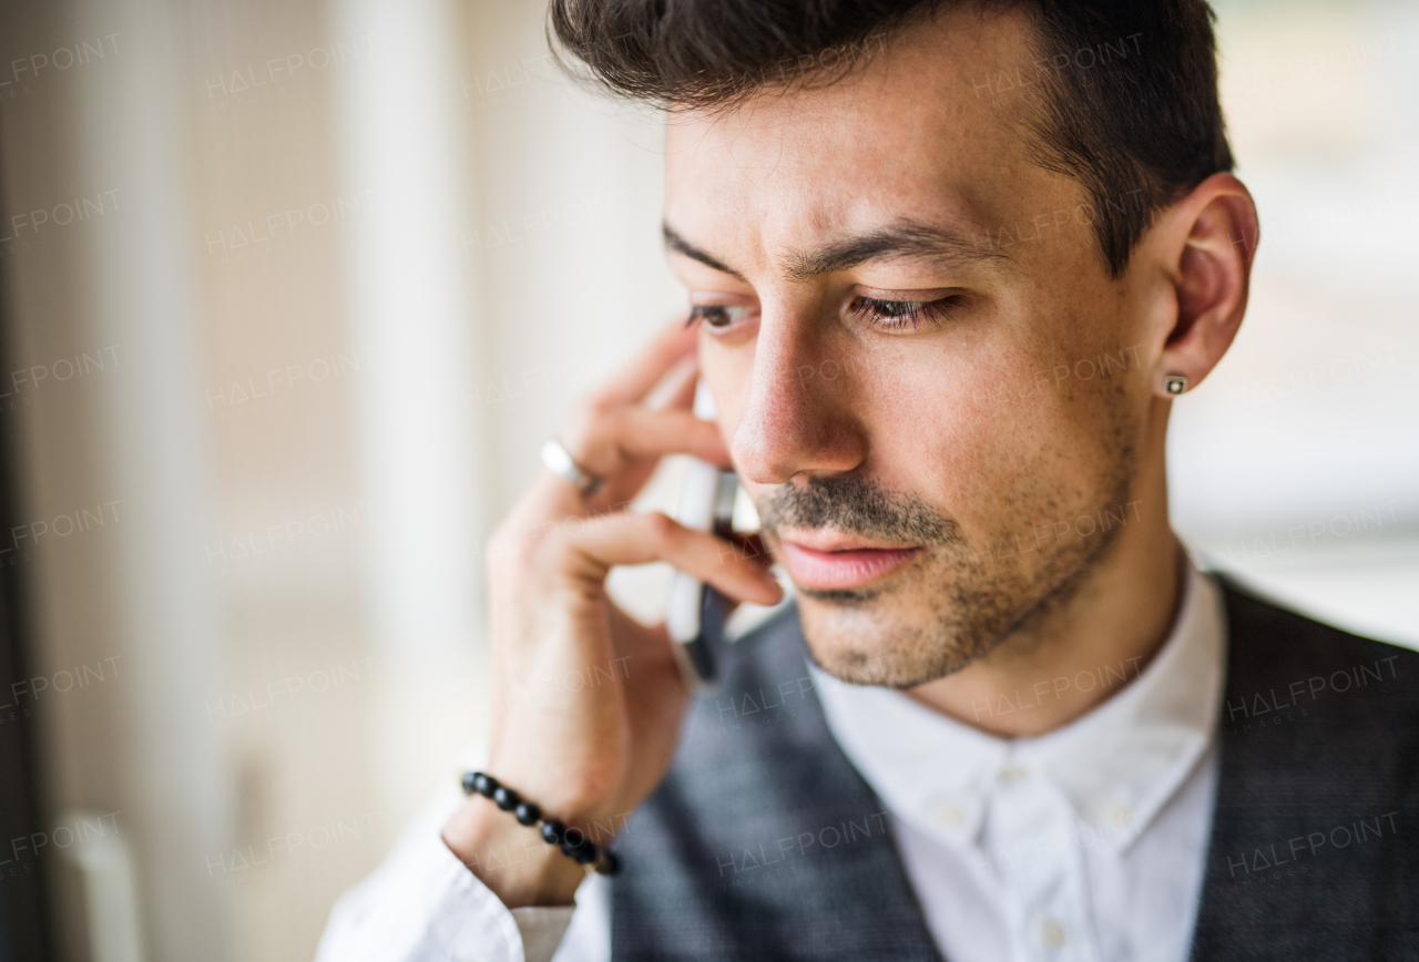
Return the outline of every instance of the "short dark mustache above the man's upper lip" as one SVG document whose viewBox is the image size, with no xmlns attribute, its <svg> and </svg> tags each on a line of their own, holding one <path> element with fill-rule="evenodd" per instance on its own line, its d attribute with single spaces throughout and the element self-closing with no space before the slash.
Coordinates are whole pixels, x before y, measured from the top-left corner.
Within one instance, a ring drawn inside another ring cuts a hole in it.
<svg viewBox="0 0 1419 962">
<path fill-rule="evenodd" d="M 779 485 L 759 507 L 759 521 L 779 528 L 833 528 L 911 545 L 962 543 L 956 522 L 918 495 L 854 475 Z"/>
</svg>

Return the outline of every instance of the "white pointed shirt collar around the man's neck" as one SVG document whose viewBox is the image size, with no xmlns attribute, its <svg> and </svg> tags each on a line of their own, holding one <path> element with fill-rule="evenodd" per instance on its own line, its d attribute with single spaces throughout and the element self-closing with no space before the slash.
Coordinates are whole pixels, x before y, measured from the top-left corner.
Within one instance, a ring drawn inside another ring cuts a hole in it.
<svg viewBox="0 0 1419 962">
<path fill-rule="evenodd" d="M 1121 853 L 1212 745 L 1225 636 L 1222 592 L 1188 562 L 1178 617 L 1154 660 L 1137 675 L 1127 664 L 1078 673 L 1070 684 L 1090 684 L 1087 674 L 1095 684 L 1128 684 L 1037 738 L 995 738 L 900 691 L 850 685 L 809 668 L 843 752 L 887 807 L 917 830 L 949 844 L 973 841 L 995 786 L 1029 772 Z M 1020 694 L 1026 705 L 1034 704 L 1029 698 Z"/>
</svg>

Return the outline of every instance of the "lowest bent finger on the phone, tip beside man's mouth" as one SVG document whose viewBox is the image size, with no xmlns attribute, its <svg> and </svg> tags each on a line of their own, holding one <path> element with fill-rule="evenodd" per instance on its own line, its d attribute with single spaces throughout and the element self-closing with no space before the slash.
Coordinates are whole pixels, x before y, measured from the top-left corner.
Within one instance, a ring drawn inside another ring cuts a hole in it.
<svg viewBox="0 0 1419 962">
<path fill-rule="evenodd" d="M 613 565 L 663 560 L 741 602 L 775 604 L 783 597 L 773 575 L 732 543 L 658 512 L 597 518 L 569 535 L 568 543 L 582 560 L 575 573 L 597 585 Z"/>
</svg>

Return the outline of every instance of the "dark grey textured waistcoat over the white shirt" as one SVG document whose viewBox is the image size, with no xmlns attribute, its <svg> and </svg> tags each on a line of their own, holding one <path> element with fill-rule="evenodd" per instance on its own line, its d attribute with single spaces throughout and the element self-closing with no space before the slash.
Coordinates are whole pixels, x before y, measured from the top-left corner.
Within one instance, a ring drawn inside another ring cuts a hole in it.
<svg viewBox="0 0 1419 962">
<path fill-rule="evenodd" d="M 1419 959 L 1419 654 L 1232 585 L 1226 607 L 1193 962 Z M 941 959 L 805 657 L 792 610 L 722 654 L 614 844 L 617 962 Z"/>
</svg>

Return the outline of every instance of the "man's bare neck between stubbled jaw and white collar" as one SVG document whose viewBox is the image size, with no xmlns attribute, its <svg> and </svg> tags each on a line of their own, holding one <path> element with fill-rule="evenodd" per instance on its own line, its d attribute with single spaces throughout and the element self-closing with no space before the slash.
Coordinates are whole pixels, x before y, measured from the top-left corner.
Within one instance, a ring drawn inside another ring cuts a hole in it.
<svg viewBox="0 0 1419 962">
<path fill-rule="evenodd" d="M 1165 512 L 1120 533 L 1067 599 L 983 658 L 907 694 L 1002 738 L 1054 731 L 1118 694 L 1172 630 L 1186 570 Z"/>
</svg>

